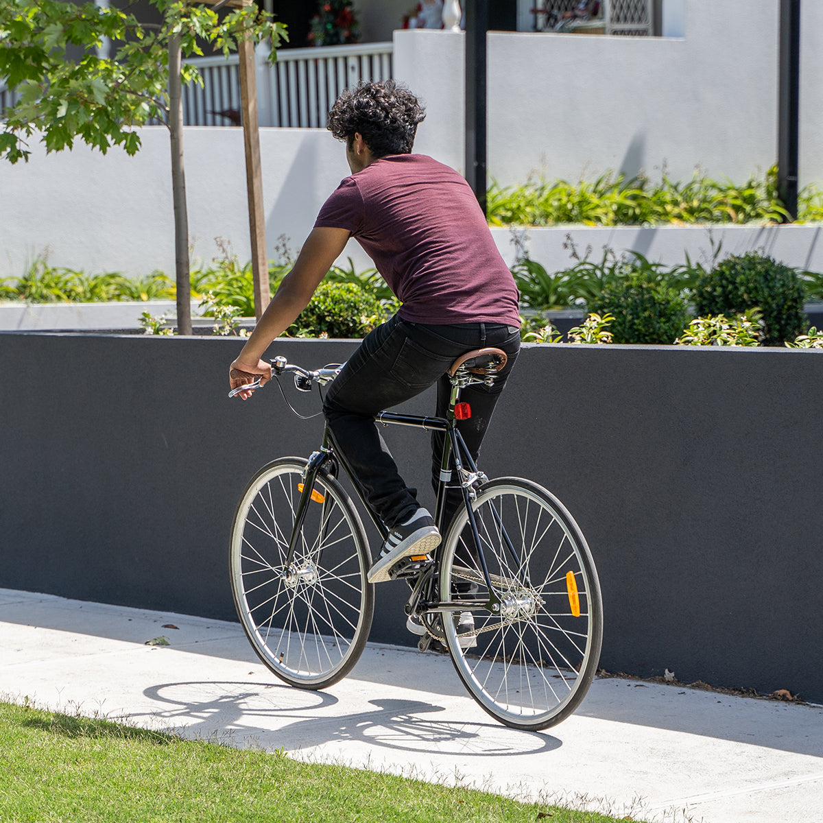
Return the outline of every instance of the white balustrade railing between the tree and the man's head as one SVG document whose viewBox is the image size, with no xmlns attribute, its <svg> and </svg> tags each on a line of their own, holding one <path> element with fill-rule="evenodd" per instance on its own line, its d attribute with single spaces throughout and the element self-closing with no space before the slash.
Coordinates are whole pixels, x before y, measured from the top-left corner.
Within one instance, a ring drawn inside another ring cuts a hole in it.
<svg viewBox="0 0 823 823">
<path fill-rule="evenodd" d="M 257 53 L 258 117 L 261 126 L 325 128 L 328 109 L 348 86 L 360 80 L 392 77 L 391 43 L 282 49 L 277 63 Z M 236 55 L 196 58 L 203 85 L 184 89 L 188 126 L 239 124 L 240 86 Z"/>
</svg>

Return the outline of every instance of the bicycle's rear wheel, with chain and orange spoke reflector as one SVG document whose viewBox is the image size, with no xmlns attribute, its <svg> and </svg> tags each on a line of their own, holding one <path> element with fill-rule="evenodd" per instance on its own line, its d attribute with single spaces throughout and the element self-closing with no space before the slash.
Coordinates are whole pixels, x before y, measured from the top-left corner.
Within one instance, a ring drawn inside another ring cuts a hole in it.
<svg viewBox="0 0 823 823">
<path fill-rule="evenodd" d="M 574 518 L 537 483 L 491 481 L 472 511 L 491 591 L 462 506 L 444 542 L 440 598 L 471 602 L 475 634 L 465 611 L 444 619 L 449 653 L 492 717 L 548 728 L 577 708 L 597 671 L 602 602 L 591 553 Z"/>
</svg>

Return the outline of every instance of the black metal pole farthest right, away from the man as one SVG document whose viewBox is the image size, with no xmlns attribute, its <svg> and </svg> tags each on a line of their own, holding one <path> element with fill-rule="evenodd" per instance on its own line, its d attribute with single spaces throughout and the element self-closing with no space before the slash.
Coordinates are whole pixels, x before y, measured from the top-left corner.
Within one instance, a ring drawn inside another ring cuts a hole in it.
<svg viewBox="0 0 823 823">
<path fill-rule="evenodd" d="M 797 220 L 797 146 L 800 114 L 800 0 L 780 0 L 778 81 L 778 193 Z"/>
</svg>

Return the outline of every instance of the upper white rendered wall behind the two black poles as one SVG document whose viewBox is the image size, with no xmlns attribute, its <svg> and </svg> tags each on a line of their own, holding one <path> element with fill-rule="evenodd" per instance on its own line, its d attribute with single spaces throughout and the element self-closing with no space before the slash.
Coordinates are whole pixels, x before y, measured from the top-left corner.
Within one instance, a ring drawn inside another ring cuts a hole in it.
<svg viewBox="0 0 823 823">
<path fill-rule="evenodd" d="M 689 0 L 686 37 L 491 33 L 488 169 L 745 181 L 777 157 L 777 0 Z M 823 3 L 802 7 L 802 182 L 823 179 Z M 395 76 L 421 94 L 421 151 L 463 168 L 463 38 L 395 32 Z M 432 126 L 429 121 L 434 121 Z"/>
</svg>

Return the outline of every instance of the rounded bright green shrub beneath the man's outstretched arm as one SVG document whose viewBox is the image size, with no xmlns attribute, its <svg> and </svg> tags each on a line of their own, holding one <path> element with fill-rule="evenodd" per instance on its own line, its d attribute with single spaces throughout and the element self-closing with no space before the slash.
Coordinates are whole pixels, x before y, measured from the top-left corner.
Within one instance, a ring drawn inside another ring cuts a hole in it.
<svg viewBox="0 0 823 823">
<path fill-rule="evenodd" d="M 300 337 L 363 337 L 387 310 L 356 283 L 321 283 L 288 332 Z"/>
</svg>

